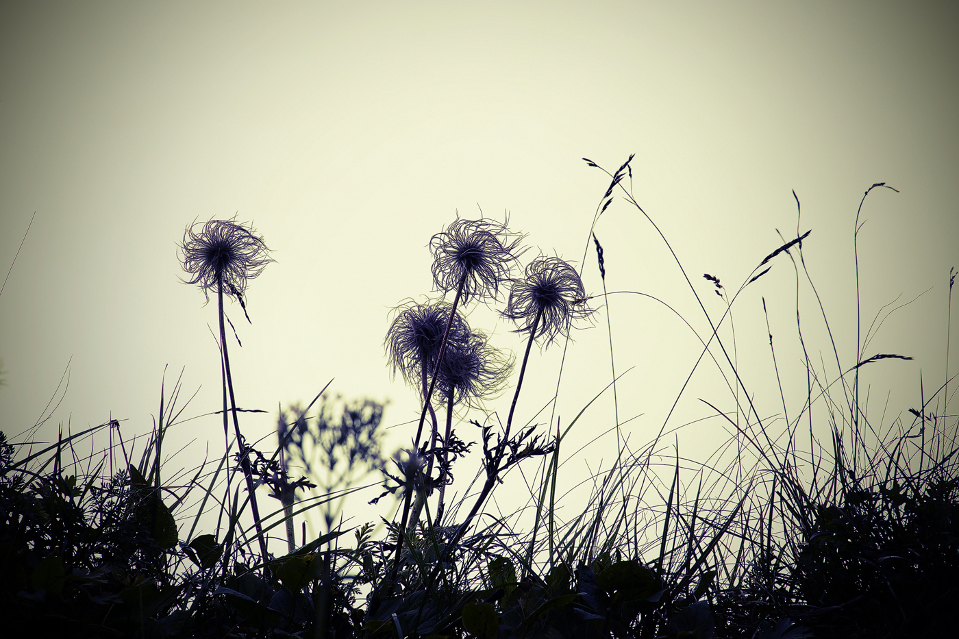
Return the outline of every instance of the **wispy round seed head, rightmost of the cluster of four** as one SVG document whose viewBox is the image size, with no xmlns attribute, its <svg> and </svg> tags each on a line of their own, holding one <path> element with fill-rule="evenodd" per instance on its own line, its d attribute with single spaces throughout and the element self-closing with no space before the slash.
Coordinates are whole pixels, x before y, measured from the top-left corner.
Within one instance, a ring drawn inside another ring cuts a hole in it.
<svg viewBox="0 0 959 639">
<path fill-rule="evenodd" d="M 573 319 L 589 319 L 594 310 L 586 303 L 586 292 L 579 273 L 558 257 L 537 257 L 526 266 L 525 277 L 514 279 L 503 317 L 512 319 L 528 333 L 536 316 L 542 312 L 536 327 L 536 338 L 546 338 L 550 345 L 558 335 L 568 336 Z"/>
</svg>

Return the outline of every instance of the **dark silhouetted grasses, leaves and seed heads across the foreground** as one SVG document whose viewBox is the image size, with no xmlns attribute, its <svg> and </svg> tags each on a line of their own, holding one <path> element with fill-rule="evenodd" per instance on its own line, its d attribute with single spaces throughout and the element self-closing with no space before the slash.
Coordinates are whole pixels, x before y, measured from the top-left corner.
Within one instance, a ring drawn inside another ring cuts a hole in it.
<svg viewBox="0 0 959 639">
<path fill-rule="evenodd" d="M 594 227 L 614 196 L 645 216 L 626 186 L 629 162 L 609 175 Z M 592 230 L 588 246 L 596 248 L 605 280 Z M 167 472 L 164 438 L 183 410 L 179 383 L 161 391 L 146 438 L 124 439 L 116 421 L 61 432 L 46 445 L 34 438 L 42 422 L 16 441 L 0 433 L 0 634 L 959 633 L 959 461 L 948 372 L 908 418 L 883 426 L 867 414 L 860 371 L 909 358 L 863 352 L 868 333 L 854 362 L 841 361 L 830 343 L 824 351 L 835 354 L 834 362 L 823 364 L 818 348 L 807 353 L 802 401 L 788 405 L 786 396 L 796 392 L 785 390 L 783 414 L 772 420 L 760 417 L 730 356 L 724 336 L 734 302 L 772 263 L 791 263 L 797 283 L 815 292 L 803 260 L 808 232 L 784 238 L 735 293 L 706 275 L 723 306 L 716 317 L 700 301 L 710 328 L 696 339 L 723 371 L 732 408 L 701 404 L 726 429 L 727 444 L 707 461 L 685 459 L 665 440 L 675 428 L 664 422 L 642 446 L 620 443 L 615 463 L 590 478 L 592 494 L 572 515 L 559 508 L 557 478 L 572 452 L 563 440 L 588 406 L 563 429 L 544 415 L 538 427 L 514 428 L 513 419 L 519 404 L 527 415 L 517 423 L 534 423 L 518 401 L 532 344 L 565 348 L 576 322 L 595 319 L 593 302 L 613 294 L 587 296 L 580 272 L 558 258 L 535 257 L 520 269 L 523 239 L 505 224 L 458 219 L 433 237 L 433 280 L 443 298 L 402 304 L 386 335 L 390 366 L 422 400 L 409 449 L 390 459 L 380 446 L 382 405 L 339 402 L 322 392 L 306 408 L 279 415 L 274 449 L 263 452 L 262 442 L 243 438 L 222 297 L 246 311 L 247 279 L 269 263 L 268 252 L 243 225 L 190 227 L 181 245 L 187 280 L 219 301 L 225 452 L 192 471 Z M 678 259 L 676 267 L 686 274 Z M 953 280 L 950 273 L 950 296 Z M 516 361 L 462 313 L 471 302 L 498 303 L 501 288 L 508 291 L 503 318 L 525 340 L 515 375 Z M 828 326 L 825 313 L 820 321 Z M 796 329 L 803 341 L 798 321 Z M 502 397 L 511 398 L 505 421 L 475 416 L 490 414 L 483 407 Z M 99 453 L 91 452 L 95 436 L 105 442 Z M 479 441 L 465 443 L 472 438 Z M 467 456 L 481 456 L 479 474 L 449 499 L 455 463 Z M 519 466 L 535 478 L 522 528 L 518 517 L 487 508 L 490 494 Z M 395 514 L 386 526 L 341 528 L 341 500 L 369 469 L 386 477 L 379 499 Z M 294 525 L 308 510 L 326 531 L 312 539 L 305 524 Z"/>
</svg>

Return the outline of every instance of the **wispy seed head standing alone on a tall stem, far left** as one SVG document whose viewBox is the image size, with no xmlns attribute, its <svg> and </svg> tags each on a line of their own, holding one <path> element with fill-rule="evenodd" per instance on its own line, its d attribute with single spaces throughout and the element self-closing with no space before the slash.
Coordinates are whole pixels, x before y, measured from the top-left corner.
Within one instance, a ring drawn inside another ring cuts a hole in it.
<svg viewBox="0 0 959 639">
<path fill-rule="evenodd" d="M 269 257 L 263 238 L 254 232 L 252 226 L 238 225 L 233 220 L 210 220 L 187 226 L 179 249 L 183 270 L 193 277 L 184 282 L 199 284 L 203 296 L 209 300 L 209 294 L 217 292 L 218 277 L 222 277 L 227 294 L 243 296 L 246 281 L 275 261 Z"/>
</svg>

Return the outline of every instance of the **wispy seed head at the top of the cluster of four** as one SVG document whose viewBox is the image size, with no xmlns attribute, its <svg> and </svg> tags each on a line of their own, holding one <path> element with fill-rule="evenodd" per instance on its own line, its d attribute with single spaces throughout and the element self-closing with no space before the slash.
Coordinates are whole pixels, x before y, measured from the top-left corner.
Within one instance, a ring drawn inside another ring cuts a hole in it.
<svg viewBox="0 0 959 639">
<path fill-rule="evenodd" d="M 496 299 L 500 283 L 509 279 L 513 264 L 523 253 L 519 245 L 524 237 L 491 220 L 457 218 L 430 240 L 433 285 L 444 293 L 455 292 L 465 274 L 464 303 L 474 296 Z"/>
</svg>

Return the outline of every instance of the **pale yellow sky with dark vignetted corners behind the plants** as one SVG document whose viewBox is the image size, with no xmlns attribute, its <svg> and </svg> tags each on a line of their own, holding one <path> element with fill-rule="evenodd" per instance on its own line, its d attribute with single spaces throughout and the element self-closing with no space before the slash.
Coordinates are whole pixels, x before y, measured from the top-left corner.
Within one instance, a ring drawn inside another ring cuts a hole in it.
<svg viewBox="0 0 959 639">
<path fill-rule="evenodd" d="M 330 378 L 347 396 L 388 398 L 386 421 L 404 422 L 415 397 L 389 379 L 383 337 L 389 307 L 430 293 L 431 235 L 457 210 L 508 210 L 531 252 L 578 262 L 608 183 L 580 158 L 613 170 L 635 153 L 633 193 L 716 317 L 721 301 L 702 273 L 735 286 L 779 246 L 777 228 L 795 236 L 795 189 L 844 367 L 855 357 L 856 206 L 874 182 L 900 189 L 867 200 L 859 245 L 866 326 L 883 305 L 927 291 L 865 349 L 916 357 L 863 370 L 871 406 L 890 391 L 885 414 L 871 413 L 888 425 L 918 405 L 920 371 L 928 394 L 946 369 L 948 270 L 959 266 L 957 31 L 949 3 L 4 3 L 4 275 L 35 221 L 0 296 L 0 424 L 9 434 L 33 425 L 68 362 L 51 427 L 112 415 L 144 432 L 166 365 L 168 383 L 185 367 L 184 389 L 200 389 L 187 414 L 217 410 L 215 307 L 177 281 L 175 246 L 195 219 L 234 214 L 277 259 L 249 287 L 252 325 L 228 310 L 244 343 L 231 356 L 238 402 L 270 411 L 247 416 L 248 432 L 266 434 L 278 403 L 308 401 Z M 610 290 L 658 296 L 703 330 L 637 211 L 616 201 L 596 235 Z M 587 290 L 601 292 L 592 248 L 585 267 Z M 735 307 L 740 372 L 766 416 L 782 406 L 762 297 L 800 402 L 786 256 Z M 818 305 L 807 293 L 800 305 L 831 379 Z M 610 306 L 617 367 L 633 367 L 620 417 L 642 414 L 627 431 L 645 441 L 698 343 L 654 302 Z M 606 317 L 574 336 L 563 423 L 608 383 Z M 521 351 L 492 312 L 470 320 Z M 549 400 L 560 355 L 534 350 L 524 418 Z M 670 425 L 708 414 L 697 397 L 731 409 L 717 379 L 704 365 Z M 571 441 L 612 419 L 604 398 Z M 722 434 L 705 424 L 680 435 L 690 457 Z M 195 420 L 176 437 L 209 438 L 219 452 L 221 428 Z M 409 438 L 403 428 L 396 442 Z M 587 449 L 573 476 L 609 450 Z"/>
</svg>

